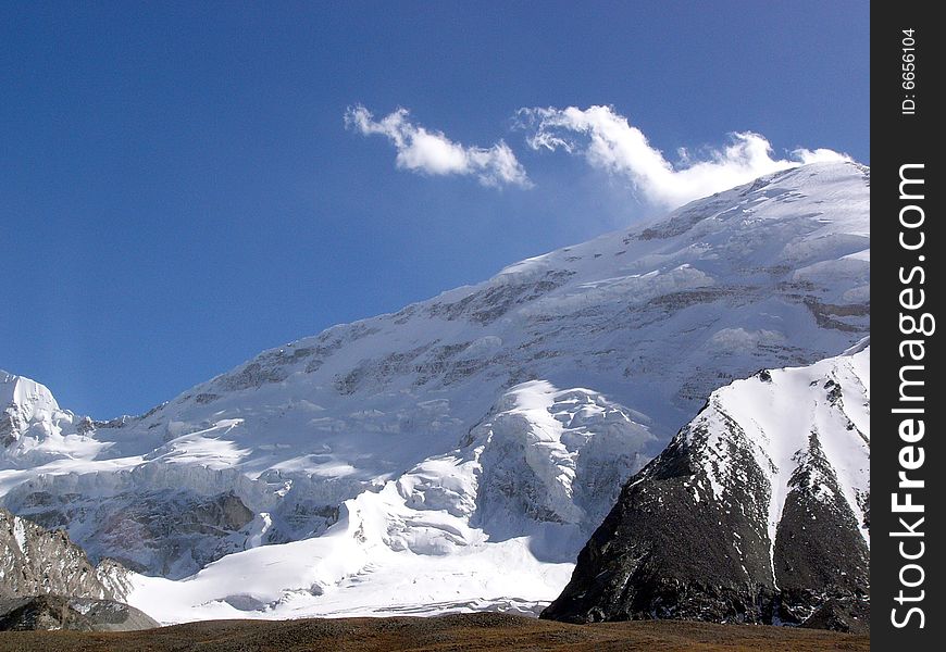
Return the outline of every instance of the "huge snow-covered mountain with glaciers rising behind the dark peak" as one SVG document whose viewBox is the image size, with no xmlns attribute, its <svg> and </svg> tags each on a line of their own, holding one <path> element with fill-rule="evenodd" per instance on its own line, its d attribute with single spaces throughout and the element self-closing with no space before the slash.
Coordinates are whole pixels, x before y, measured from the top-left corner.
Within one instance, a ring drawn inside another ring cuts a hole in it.
<svg viewBox="0 0 946 652">
<path fill-rule="evenodd" d="M 163 619 L 532 609 L 712 390 L 869 330 L 869 179 L 763 177 L 265 351 L 138 417 L 80 418 L 8 377 L 0 500 L 144 574 L 203 568 L 190 598 L 141 579 L 140 604 L 189 605 Z M 244 589 L 212 580 L 238 568 Z"/>
</svg>

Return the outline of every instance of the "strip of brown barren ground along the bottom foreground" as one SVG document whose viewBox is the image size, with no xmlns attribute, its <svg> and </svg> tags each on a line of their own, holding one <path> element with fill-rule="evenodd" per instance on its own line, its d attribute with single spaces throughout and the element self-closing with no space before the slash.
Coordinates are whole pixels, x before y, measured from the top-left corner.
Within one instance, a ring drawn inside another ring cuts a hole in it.
<svg viewBox="0 0 946 652">
<path fill-rule="evenodd" d="M 680 620 L 565 625 L 505 614 L 433 618 L 209 620 L 114 634 L 0 632 L 0 652 L 326 652 L 568 650 L 647 652 L 870 650 L 867 636 Z"/>
</svg>

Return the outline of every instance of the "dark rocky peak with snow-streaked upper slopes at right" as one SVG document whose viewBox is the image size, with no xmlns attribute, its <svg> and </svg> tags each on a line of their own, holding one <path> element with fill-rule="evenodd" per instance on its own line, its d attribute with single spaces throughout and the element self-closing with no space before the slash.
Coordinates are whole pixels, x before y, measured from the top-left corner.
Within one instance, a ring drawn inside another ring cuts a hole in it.
<svg viewBox="0 0 946 652">
<path fill-rule="evenodd" d="M 822 607 L 862 613 L 869 513 L 864 341 L 714 391 L 627 484 L 542 615 L 802 624 Z"/>
</svg>

